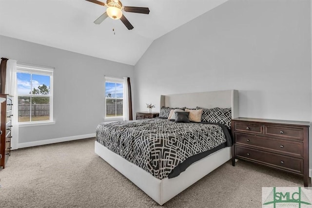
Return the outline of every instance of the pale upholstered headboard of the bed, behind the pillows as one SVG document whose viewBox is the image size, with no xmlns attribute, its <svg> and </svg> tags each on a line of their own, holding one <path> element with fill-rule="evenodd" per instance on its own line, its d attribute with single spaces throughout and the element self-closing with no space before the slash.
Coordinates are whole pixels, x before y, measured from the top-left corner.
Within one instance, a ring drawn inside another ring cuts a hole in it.
<svg viewBox="0 0 312 208">
<path fill-rule="evenodd" d="M 202 93 L 161 95 L 160 107 L 232 108 L 232 118 L 238 117 L 238 91 L 223 90 Z"/>
</svg>

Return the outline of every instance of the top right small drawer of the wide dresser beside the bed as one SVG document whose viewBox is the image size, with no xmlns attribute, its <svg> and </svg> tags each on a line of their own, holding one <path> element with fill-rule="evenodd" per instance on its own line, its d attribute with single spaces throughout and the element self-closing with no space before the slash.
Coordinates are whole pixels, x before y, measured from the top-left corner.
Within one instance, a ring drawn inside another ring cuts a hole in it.
<svg viewBox="0 0 312 208">
<path fill-rule="evenodd" d="M 301 128 L 266 125 L 265 134 L 270 136 L 278 136 L 281 138 L 303 140 L 303 129 Z"/>
</svg>

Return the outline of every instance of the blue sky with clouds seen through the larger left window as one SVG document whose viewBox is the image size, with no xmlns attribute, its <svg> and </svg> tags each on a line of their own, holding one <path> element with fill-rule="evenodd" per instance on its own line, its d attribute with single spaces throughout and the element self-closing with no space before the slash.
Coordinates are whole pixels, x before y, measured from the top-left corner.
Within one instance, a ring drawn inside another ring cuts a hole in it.
<svg viewBox="0 0 312 208">
<path fill-rule="evenodd" d="M 29 92 L 38 86 L 45 84 L 50 86 L 50 76 L 35 75 L 32 76 L 27 73 L 17 73 L 18 81 L 18 94 L 19 95 L 29 95 Z"/>
</svg>

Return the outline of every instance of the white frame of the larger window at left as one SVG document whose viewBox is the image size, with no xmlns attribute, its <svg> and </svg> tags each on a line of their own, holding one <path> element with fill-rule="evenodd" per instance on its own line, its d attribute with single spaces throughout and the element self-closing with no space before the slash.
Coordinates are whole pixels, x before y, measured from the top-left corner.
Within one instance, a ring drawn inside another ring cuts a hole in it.
<svg viewBox="0 0 312 208">
<path fill-rule="evenodd" d="M 54 68 L 53 67 L 46 67 L 46 66 L 38 66 L 38 65 L 31 65 L 31 64 L 24 64 L 24 63 L 17 63 L 16 67 L 17 73 L 25 73 L 30 75 L 43 75 L 43 76 L 50 76 L 50 95 L 33 95 L 33 94 L 19 94 L 17 96 L 36 96 L 36 97 L 49 97 L 49 104 L 50 104 L 50 119 L 45 121 L 31 121 L 31 114 L 30 114 L 30 121 L 26 122 L 18 122 L 20 127 L 27 127 L 27 126 L 40 126 L 40 125 L 50 125 L 55 124 L 53 120 L 53 75 L 54 75 Z M 17 74 L 16 74 L 17 76 Z M 16 88 L 18 92 L 18 82 L 16 82 Z M 32 89 L 31 89 L 32 90 Z M 31 91 L 32 92 L 32 91 Z M 19 104 L 18 104 L 19 105 Z M 19 115 L 18 115 L 19 116 Z"/>
</svg>

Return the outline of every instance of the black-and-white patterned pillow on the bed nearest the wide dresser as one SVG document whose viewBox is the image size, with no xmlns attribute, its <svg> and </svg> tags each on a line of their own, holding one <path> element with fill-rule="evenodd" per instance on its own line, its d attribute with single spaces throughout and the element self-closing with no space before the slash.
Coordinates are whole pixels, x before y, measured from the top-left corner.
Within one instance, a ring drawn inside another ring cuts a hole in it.
<svg viewBox="0 0 312 208">
<path fill-rule="evenodd" d="M 231 108 L 200 108 L 196 107 L 196 109 L 203 109 L 203 113 L 201 115 L 202 122 L 212 122 L 212 123 L 220 123 L 224 126 L 231 128 L 231 118 L 232 112 Z"/>
</svg>

